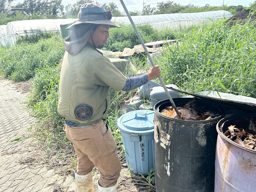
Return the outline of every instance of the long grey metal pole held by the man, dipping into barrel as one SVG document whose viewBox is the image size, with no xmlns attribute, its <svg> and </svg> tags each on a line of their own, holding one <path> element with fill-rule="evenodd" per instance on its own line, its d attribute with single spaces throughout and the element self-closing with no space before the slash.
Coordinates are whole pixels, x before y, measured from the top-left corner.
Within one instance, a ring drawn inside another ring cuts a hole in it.
<svg viewBox="0 0 256 192">
<path fill-rule="evenodd" d="M 140 43 L 142 44 L 143 49 L 144 49 L 145 52 L 146 52 L 146 55 L 147 55 L 148 58 L 149 58 L 149 61 L 150 61 L 151 65 L 152 65 L 152 66 L 155 66 L 155 63 L 153 62 L 153 59 L 151 58 L 151 56 L 150 56 L 150 54 L 149 54 L 149 52 L 148 52 L 148 49 L 146 48 L 145 43 L 143 42 L 142 37 L 140 36 L 139 31 L 137 30 L 137 28 L 136 28 L 136 26 L 135 26 L 135 24 L 134 24 L 134 22 L 133 22 L 133 20 L 132 20 L 132 17 L 130 16 L 128 10 L 126 9 L 126 6 L 124 5 L 123 0 L 120 0 L 120 2 L 121 2 L 122 6 L 123 6 L 123 8 L 124 8 L 124 11 L 126 12 L 126 15 L 128 16 L 128 18 L 129 18 L 129 20 L 130 20 L 130 22 L 131 22 L 131 24 L 132 24 L 132 26 L 133 26 L 133 28 L 134 28 L 134 30 L 135 30 L 135 32 L 136 32 L 138 38 L 139 38 Z M 159 78 L 159 81 L 161 82 L 162 86 L 164 87 L 164 90 L 165 90 L 165 92 L 166 92 L 166 94 L 167 94 L 167 96 L 168 96 L 168 98 L 169 98 L 169 100 L 170 100 L 170 102 L 171 102 L 171 104 L 172 104 L 172 107 L 173 107 L 174 110 L 176 111 L 176 113 L 177 113 L 179 119 L 182 119 L 181 114 L 178 112 L 178 109 L 177 109 L 177 107 L 176 107 L 174 101 L 172 100 L 169 91 L 167 90 L 167 88 L 166 88 L 166 86 L 165 86 L 165 84 L 164 84 L 164 81 L 162 80 L 161 76 L 159 76 L 158 78 Z"/>
</svg>

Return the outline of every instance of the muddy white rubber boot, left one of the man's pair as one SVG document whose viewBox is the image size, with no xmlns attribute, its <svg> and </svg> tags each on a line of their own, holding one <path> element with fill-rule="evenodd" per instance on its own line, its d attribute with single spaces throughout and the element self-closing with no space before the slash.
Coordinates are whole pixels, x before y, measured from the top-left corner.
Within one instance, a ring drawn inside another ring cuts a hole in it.
<svg viewBox="0 0 256 192">
<path fill-rule="evenodd" d="M 75 183 L 78 192 L 94 192 L 93 182 L 92 182 L 92 173 L 90 172 L 87 175 L 78 175 L 75 172 Z"/>
</svg>

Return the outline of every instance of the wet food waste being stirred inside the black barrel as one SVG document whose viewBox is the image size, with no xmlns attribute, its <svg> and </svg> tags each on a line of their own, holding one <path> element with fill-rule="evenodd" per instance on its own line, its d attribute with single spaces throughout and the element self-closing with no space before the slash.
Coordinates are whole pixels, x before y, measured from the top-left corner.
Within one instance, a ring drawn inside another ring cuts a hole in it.
<svg viewBox="0 0 256 192">
<path fill-rule="evenodd" d="M 177 107 L 177 109 L 182 119 L 187 121 L 204 121 L 218 115 L 216 112 L 206 111 L 197 97 L 194 97 L 193 100 L 186 103 L 183 107 Z M 165 107 L 160 113 L 167 117 L 178 119 L 178 115 L 172 106 Z"/>
</svg>

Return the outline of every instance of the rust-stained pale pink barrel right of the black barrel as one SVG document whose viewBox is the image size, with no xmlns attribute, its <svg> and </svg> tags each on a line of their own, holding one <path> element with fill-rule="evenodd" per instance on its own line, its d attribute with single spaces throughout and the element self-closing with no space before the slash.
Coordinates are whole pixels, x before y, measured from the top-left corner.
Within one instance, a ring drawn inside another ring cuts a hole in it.
<svg viewBox="0 0 256 192">
<path fill-rule="evenodd" d="M 256 114 L 233 114 L 217 123 L 215 192 L 256 191 L 256 151 L 236 144 L 223 134 L 230 125 L 246 127 L 249 118 L 255 121 Z"/>
</svg>

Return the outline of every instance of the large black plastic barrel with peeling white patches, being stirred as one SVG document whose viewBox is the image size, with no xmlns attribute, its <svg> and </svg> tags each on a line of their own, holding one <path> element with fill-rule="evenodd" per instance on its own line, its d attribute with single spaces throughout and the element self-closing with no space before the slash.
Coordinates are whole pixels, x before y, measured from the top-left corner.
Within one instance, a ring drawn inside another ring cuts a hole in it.
<svg viewBox="0 0 256 192">
<path fill-rule="evenodd" d="M 176 107 L 183 107 L 192 99 L 173 100 Z M 156 192 L 214 191 L 216 124 L 224 117 L 225 107 L 206 99 L 198 101 L 202 113 L 212 111 L 218 115 L 204 121 L 186 121 L 160 113 L 172 106 L 169 100 L 154 106 Z"/>
</svg>

